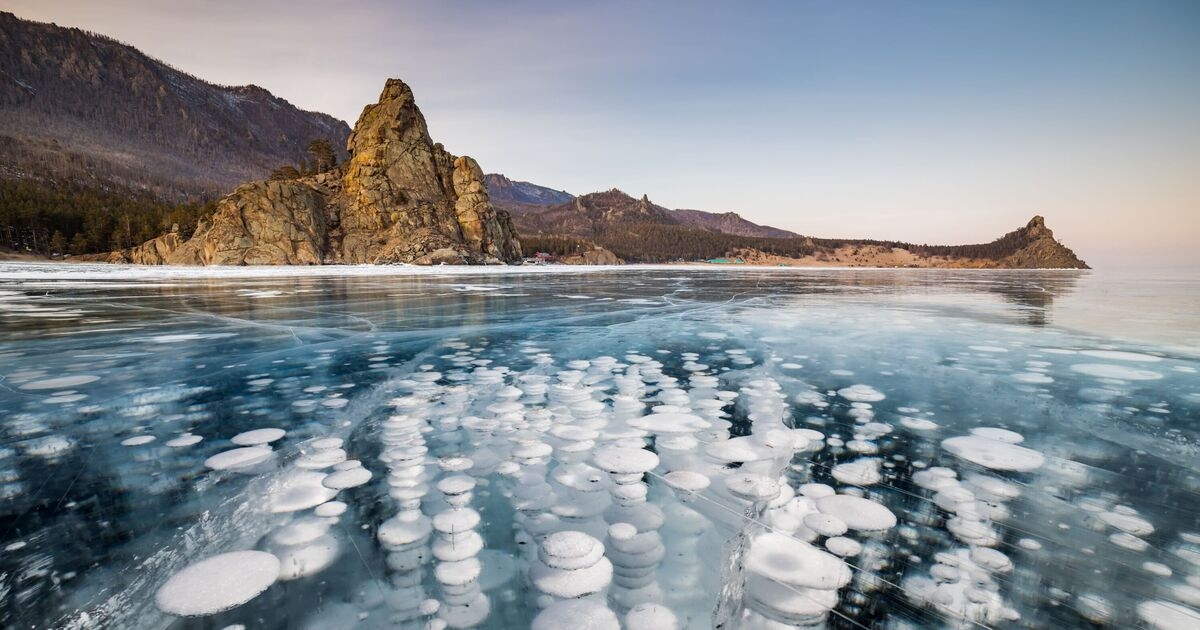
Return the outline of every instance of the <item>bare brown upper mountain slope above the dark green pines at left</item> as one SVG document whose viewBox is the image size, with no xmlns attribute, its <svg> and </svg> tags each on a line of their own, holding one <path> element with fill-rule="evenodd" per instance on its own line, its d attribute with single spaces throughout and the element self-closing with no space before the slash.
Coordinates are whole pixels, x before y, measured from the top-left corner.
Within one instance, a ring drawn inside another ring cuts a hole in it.
<svg viewBox="0 0 1200 630">
<path fill-rule="evenodd" d="M 349 131 L 256 85 L 214 85 L 102 35 L 0 12 L 0 178 L 215 197 Z"/>
</svg>

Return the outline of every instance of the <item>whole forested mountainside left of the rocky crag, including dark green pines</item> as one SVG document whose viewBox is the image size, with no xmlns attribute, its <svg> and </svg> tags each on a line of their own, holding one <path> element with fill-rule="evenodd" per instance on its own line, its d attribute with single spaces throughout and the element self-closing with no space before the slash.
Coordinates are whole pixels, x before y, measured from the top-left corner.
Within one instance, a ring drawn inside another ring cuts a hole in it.
<svg viewBox="0 0 1200 630">
<path fill-rule="evenodd" d="M 343 156 L 348 134 L 262 88 L 0 12 L 0 247 L 100 252 L 187 229 L 238 184 L 312 169 L 313 140 Z"/>
</svg>

